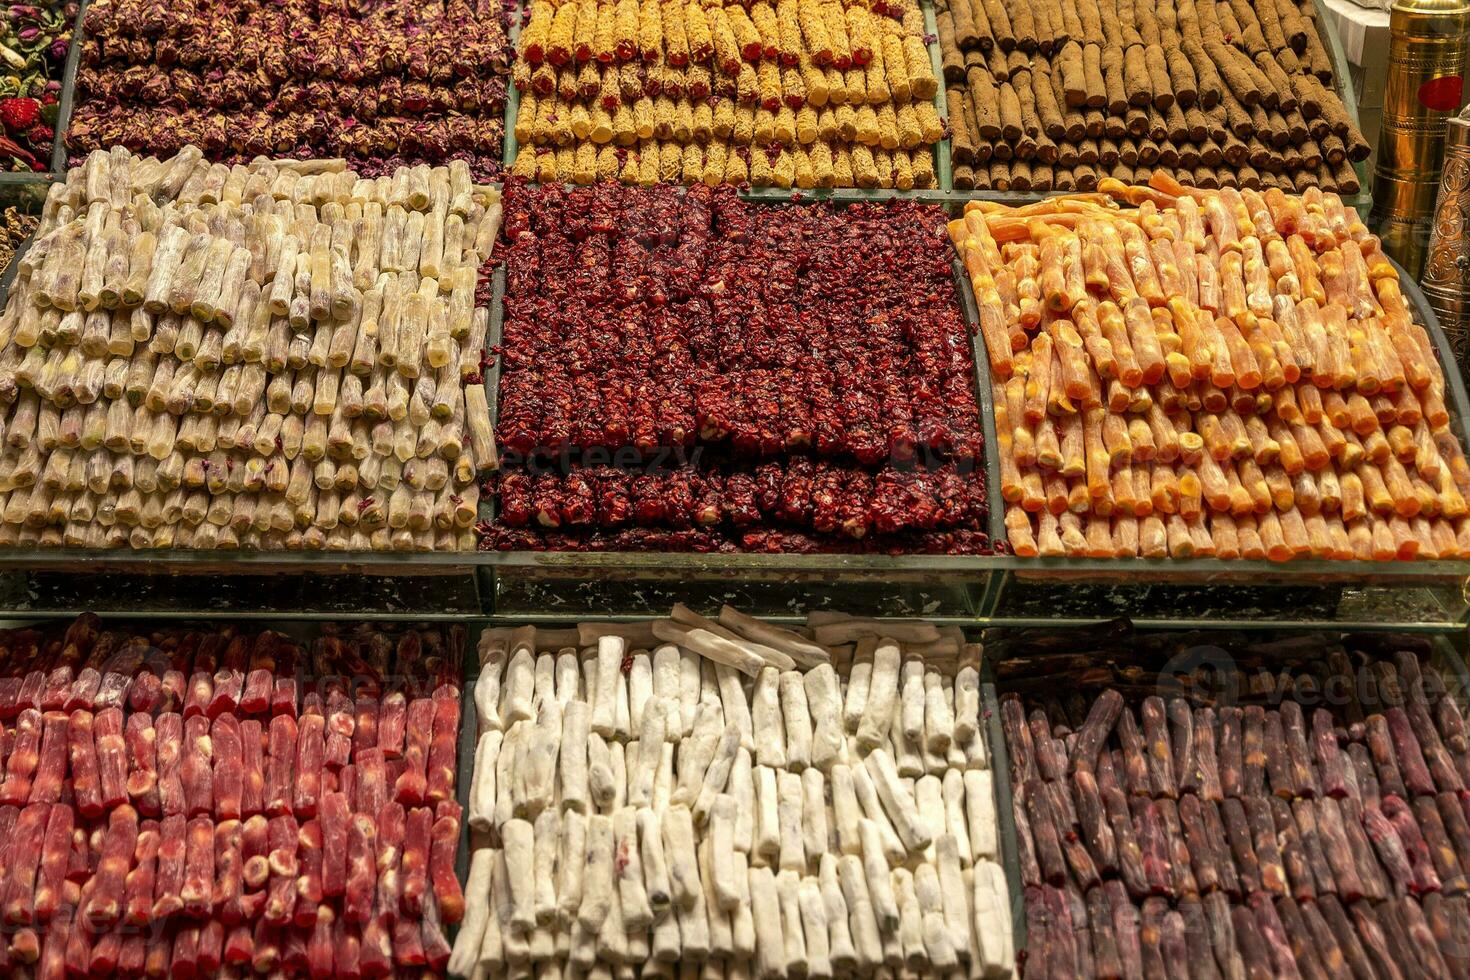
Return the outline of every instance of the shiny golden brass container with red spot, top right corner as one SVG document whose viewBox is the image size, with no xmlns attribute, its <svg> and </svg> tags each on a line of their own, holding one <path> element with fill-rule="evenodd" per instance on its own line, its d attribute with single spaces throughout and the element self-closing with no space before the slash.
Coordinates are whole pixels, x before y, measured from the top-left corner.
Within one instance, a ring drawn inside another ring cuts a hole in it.
<svg viewBox="0 0 1470 980">
<path fill-rule="evenodd" d="M 1372 226 L 1411 276 L 1429 242 L 1445 125 L 1463 104 L 1467 34 L 1470 0 L 1396 0 L 1389 12 Z"/>
</svg>

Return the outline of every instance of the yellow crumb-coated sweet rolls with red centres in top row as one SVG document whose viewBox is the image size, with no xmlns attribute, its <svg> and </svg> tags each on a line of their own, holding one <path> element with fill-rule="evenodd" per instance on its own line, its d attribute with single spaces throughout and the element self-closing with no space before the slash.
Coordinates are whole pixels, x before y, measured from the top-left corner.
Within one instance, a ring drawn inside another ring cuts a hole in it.
<svg viewBox="0 0 1470 980">
<path fill-rule="evenodd" d="M 513 172 L 544 184 L 936 187 L 907 0 L 532 0 L 512 78 Z"/>
</svg>

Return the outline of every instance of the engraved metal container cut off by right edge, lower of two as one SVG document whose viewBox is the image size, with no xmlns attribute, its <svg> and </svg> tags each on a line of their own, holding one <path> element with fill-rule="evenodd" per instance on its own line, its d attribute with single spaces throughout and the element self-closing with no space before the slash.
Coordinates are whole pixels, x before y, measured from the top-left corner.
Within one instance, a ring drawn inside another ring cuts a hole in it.
<svg viewBox="0 0 1470 980">
<path fill-rule="evenodd" d="M 1470 376 L 1470 109 L 1449 120 L 1430 232 L 1421 285 Z"/>
</svg>

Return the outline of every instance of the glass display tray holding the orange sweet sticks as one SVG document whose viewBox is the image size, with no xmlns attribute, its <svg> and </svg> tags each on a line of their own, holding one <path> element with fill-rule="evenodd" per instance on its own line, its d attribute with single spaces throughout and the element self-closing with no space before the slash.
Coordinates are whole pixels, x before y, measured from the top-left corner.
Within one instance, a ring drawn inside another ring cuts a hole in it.
<svg viewBox="0 0 1470 980">
<path fill-rule="evenodd" d="M 1399 284 L 1424 325 L 1445 375 L 1445 401 L 1461 447 L 1470 447 L 1470 398 L 1449 342 L 1424 294 L 1396 263 Z M 957 276 L 960 306 L 979 336 L 979 311 L 967 276 Z M 976 345 L 983 345 L 983 338 Z M 986 360 L 988 359 L 982 359 Z M 986 378 L 988 378 L 986 372 Z M 985 438 L 995 445 L 994 419 Z M 994 455 L 994 454 L 992 454 Z M 991 464 L 991 500 L 1000 500 L 1000 461 Z M 1001 520 L 1004 510 L 992 517 Z M 997 619 L 1080 619 L 1127 610 L 1145 619 L 1216 619 L 1230 611 L 1272 621 L 1395 623 L 1458 621 L 1470 613 L 1470 561 L 1250 561 L 1219 558 L 1008 558 L 998 570 Z"/>
</svg>

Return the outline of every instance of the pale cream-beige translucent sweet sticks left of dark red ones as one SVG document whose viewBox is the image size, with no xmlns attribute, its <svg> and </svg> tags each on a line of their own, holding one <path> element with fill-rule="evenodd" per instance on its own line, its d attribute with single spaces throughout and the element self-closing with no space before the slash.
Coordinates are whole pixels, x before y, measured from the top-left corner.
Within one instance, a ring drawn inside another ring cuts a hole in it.
<svg viewBox="0 0 1470 980">
<path fill-rule="evenodd" d="M 498 192 L 96 151 L 0 314 L 0 541 L 472 550 Z"/>
</svg>

